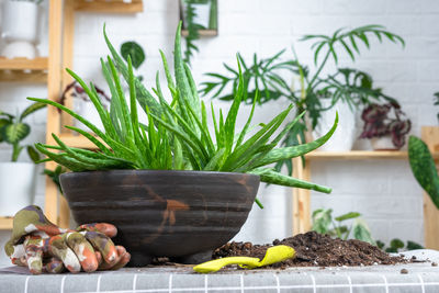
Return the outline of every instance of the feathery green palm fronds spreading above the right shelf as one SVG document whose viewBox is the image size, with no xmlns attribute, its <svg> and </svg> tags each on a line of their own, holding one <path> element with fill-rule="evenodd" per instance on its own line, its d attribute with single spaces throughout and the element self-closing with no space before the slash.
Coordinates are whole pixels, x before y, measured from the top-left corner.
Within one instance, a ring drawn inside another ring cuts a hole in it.
<svg viewBox="0 0 439 293">
<path fill-rule="evenodd" d="M 305 35 L 300 41 L 313 42 L 311 48 L 314 52 L 313 74 L 307 66 L 300 61 L 293 47 L 292 59 L 282 57 L 284 50 L 270 58 L 260 59 L 255 54 L 252 64 L 247 66 L 243 56 L 238 58 L 244 68 L 244 88 L 246 103 L 251 103 L 256 93 L 260 92 L 257 99 L 259 104 L 263 104 L 278 99 L 288 99 L 296 105 L 297 113 L 307 112 L 311 121 L 311 128 L 314 129 L 318 124 L 322 112 L 329 110 L 338 102 L 348 103 L 352 109 L 359 105 L 369 104 L 376 101 L 397 102 L 382 93 L 382 90 L 373 87 L 373 81 L 367 72 L 351 69 L 338 68 L 334 74 L 324 76 L 322 72 L 329 60 L 338 65 L 339 54 L 346 52 L 352 60 L 360 54 L 361 44 L 370 48 L 370 41 L 375 37 L 380 43 L 387 40 L 393 43 L 405 45 L 404 40 L 385 30 L 381 25 L 364 25 L 353 30 L 339 29 L 333 35 Z M 236 95 L 236 84 L 238 83 L 238 70 L 224 64 L 226 75 L 216 72 L 207 74 L 212 80 L 203 83 L 201 93 L 212 94 L 213 98 L 232 101 Z M 291 86 L 290 80 L 283 78 L 290 75 L 299 78 L 299 88 Z M 233 92 L 228 89 L 232 84 Z M 323 108 L 320 99 L 331 99 L 329 108 Z M 284 146 L 297 145 L 304 142 L 304 133 L 307 131 L 305 117 L 291 128 L 282 144 Z M 284 161 L 288 162 L 288 161 Z M 277 166 L 279 170 L 282 164 Z M 290 174 L 291 164 L 288 165 Z"/>
</svg>

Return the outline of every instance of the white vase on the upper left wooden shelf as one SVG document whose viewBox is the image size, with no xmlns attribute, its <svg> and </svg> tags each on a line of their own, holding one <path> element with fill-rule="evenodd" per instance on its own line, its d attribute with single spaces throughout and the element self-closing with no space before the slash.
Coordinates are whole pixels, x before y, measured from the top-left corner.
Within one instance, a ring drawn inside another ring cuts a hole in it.
<svg viewBox="0 0 439 293">
<path fill-rule="evenodd" d="M 35 43 L 38 31 L 38 4 L 7 0 L 3 2 L 1 19 L 1 36 L 7 43 L 1 56 L 35 58 L 37 56 Z"/>
</svg>

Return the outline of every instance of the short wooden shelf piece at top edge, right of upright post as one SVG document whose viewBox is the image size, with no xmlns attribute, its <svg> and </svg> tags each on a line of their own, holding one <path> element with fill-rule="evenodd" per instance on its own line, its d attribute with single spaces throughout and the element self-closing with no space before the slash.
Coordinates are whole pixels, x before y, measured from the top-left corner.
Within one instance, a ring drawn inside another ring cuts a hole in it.
<svg viewBox="0 0 439 293">
<path fill-rule="evenodd" d="M 76 0 L 76 11 L 100 13 L 137 13 L 144 11 L 143 0 Z"/>
</svg>

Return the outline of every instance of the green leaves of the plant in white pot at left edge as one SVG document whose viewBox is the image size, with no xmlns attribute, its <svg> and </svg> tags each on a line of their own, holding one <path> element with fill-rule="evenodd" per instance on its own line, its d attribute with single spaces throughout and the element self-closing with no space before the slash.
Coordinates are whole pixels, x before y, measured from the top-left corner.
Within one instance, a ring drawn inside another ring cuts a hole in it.
<svg viewBox="0 0 439 293">
<path fill-rule="evenodd" d="M 44 103 L 33 103 L 16 116 L 0 111 L 0 143 L 12 145 L 12 161 L 16 161 L 23 150 L 23 146 L 20 145 L 20 142 L 26 138 L 31 133 L 31 126 L 24 123 L 23 120 L 45 106 Z M 27 154 L 33 161 L 40 160 L 40 155 L 33 147 L 27 146 Z"/>
</svg>

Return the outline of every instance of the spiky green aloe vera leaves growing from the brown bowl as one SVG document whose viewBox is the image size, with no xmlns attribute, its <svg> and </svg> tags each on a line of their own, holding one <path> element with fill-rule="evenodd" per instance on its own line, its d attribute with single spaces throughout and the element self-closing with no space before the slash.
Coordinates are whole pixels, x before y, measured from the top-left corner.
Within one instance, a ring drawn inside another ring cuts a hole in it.
<svg viewBox="0 0 439 293">
<path fill-rule="evenodd" d="M 177 30 L 175 43 L 175 78 L 170 74 L 165 54 L 160 52 L 168 89 L 172 97 L 170 103 L 165 99 L 158 74 L 153 94 L 134 76 L 131 59 L 128 58 L 126 64 L 117 54 L 108 38 L 105 30 L 104 36 L 112 58 L 108 57 L 106 61 L 101 59 L 101 66 L 112 97 L 110 111 L 102 106 L 92 83 L 87 86 L 80 77 L 67 69 L 93 102 L 104 131 L 100 131 L 92 123 L 57 102 L 29 98 L 36 102 L 54 105 L 70 114 L 100 138 L 99 140 L 95 136 L 80 128 L 66 126 L 89 139 L 95 145 L 98 151 L 68 147 L 53 134 L 57 143 L 56 146 L 35 145 L 41 153 L 48 157 L 46 160 L 54 160 L 71 171 L 172 169 L 247 172 L 260 176 L 263 182 L 329 193 L 329 188 L 281 174 L 266 166 L 279 160 L 302 156 L 322 146 L 335 132 L 338 116 L 335 119 L 331 129 L 315 142 L 277 148 L 277 145 L 289 129 L 297 123 L 301 115 L 274 136 L 275 131 L 290 113 L 292 109 L 292 105 L 290 105 L 270 122 L 259 124 L 255 134 L 248 135 L 249 129 L 252 129 L 251 120 L 256 104 L 254 102 L 246 124 L 238 132 L 236 119 L 245 94 L 243 74 L 239 69 L 240 79 L 237 94 L 228 112 L 219 111 L 219 113 L 216 113 L 211 104 L 214 125 L 214 135 L 212 135 L 207 124 L 207 106 L 200 100 L 191 70 L 183 61 L 180 32 L 181 23 Z M 130 103 L 125 100 L 120 74 L 130 84 Z M 138 120 L 136 102 L 147 114 L 145 124 Z"/>
</svg>

